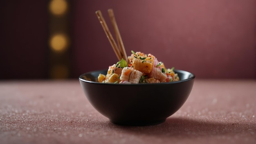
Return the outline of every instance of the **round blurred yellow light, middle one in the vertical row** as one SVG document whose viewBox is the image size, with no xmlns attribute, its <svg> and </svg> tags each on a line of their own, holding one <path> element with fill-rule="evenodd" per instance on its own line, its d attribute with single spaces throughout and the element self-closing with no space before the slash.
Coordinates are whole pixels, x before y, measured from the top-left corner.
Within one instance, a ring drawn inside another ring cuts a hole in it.
<svg viewBox="0 0 256 144">
<path fill-rule="evenodd" d="M 50 46 L 54 51 L 63 51 L 67 48 L 67 37 L 62 34 L 54 35 L 50 39 Z"/>
</svg>

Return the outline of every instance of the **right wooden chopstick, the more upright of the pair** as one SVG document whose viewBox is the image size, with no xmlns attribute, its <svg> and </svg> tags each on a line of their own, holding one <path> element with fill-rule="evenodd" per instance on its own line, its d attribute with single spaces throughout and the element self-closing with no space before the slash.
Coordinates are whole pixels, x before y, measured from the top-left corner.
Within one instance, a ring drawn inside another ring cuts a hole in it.
<svg viewBox="0 0 256 144">
<path fill-rule="evenodd" d="M 126 50 L 124 48 L 124 43 L 122 41 L 118 26 L 117 26 L 117 22 L 116 22 L 116 19 L 115 19 L 115 15 L 114 15 L 114 12 L 113 12 L 112 9 L 108 9 L 108 15 L 110 17 L 110 21 L 112 23 L 112 26 L 113 26 L 114 31 L 115 31 L 115 35 L 117 37 L 117 43 L 119 45 L 119 50 L 121 52 L 121 57 L 124 58 L 124 60 L 126 60 L 128 62 L 128 58 L 127 58 L 127 55 L 126 55 Z"/>
</svg>

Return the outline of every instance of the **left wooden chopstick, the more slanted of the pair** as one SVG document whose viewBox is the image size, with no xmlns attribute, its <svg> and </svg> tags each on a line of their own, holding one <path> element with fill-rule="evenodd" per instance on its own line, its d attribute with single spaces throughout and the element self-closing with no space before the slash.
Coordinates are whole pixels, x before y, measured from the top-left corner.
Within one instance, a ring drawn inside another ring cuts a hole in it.
<svg viewBox="0 0 256 144">
<path fill-rule="evenodd" d="M 95 13 L 96 13 L 96 15 L 97 15 L 97 17 L 99 19 L 99 22 L 101 23 L 101 26 L 102 26 L 103 30 L 105 31 L 105 33 L 106 33 L 106 35 L 108 37 L 108 40 L 109 40 L 109 42 L 110 42 L 110 44 L 111 44 L 115 54 L 117 55 L 118 60 L 121 60 L 122 56 L 121 56 L 120 50 L 118 49 L 117 44 L 116 44 L 115 40 L 113 39 L 109 29 L 108 29 L 108 25 L 106 24 L 106 21 L 104 20 L 101 11 L 98 10 Z"/>
</svg>

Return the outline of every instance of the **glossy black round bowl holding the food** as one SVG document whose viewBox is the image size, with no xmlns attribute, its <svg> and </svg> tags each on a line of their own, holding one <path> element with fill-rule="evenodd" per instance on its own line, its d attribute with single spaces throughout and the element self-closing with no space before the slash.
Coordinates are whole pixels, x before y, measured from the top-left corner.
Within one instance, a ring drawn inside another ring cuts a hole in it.
<svg viewBox="0 0 256 144">
<path fill-rule="evenodd" d="M 160 124 L 175 113 L 188 98 L 195 75 L 174 70 L 180 81 L 150 84 L 114 84 L 97 82 L 107 70 L 79 76 L 85 96 L 110 122 L 121 125 Z"/>
</svg>

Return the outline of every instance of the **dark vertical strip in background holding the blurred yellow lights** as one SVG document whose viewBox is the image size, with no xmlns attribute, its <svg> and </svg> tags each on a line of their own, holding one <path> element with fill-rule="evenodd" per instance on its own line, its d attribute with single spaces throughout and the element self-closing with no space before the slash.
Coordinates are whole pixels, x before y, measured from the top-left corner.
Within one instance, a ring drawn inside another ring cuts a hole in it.
<svg viewBox="0 0 256 144">
<path fill-rule="evenodd" d="M 49 5 L 52 4 L 51 2 L 54 1 L 50 1 Z M 49 46 L 48 70 L 50 79 L 70 78 L 70 51 L 72 51 L 70 50 L 70 1 L 63 0 L 63 3 L 67 5 L 63 13 L 56 15 L 49 11 L 49 41 L 56 35 L 61 35 L 66 40 L 66 46 L 62 50 L 56 51 L 51 45 Z"/>
</svg>

